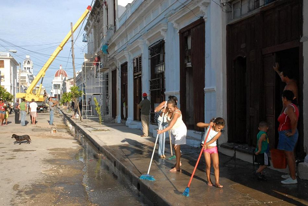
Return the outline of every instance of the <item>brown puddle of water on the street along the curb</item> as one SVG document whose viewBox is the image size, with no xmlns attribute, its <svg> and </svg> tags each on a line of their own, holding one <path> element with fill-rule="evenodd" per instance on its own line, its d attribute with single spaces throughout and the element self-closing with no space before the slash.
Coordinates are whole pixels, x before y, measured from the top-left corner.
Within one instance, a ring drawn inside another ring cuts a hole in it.
<svg viewBox="0 0 308 206">
<path fill-rule="evenodd" d="M 151 205 L 84 135 L 76 133 L 75 137 L 78 138 L 83 149 L 76 154 L 75 158 L 85 163 L 83 184 L 92 203 L 99 205 Z"/>
</svg>

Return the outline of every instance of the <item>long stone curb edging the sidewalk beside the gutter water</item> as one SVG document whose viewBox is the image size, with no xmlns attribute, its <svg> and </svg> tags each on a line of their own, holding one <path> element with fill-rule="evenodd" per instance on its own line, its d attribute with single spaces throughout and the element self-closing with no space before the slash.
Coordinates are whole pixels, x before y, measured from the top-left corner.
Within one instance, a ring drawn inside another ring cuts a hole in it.
<svg viewBox="0 0 308 206">
<path fill-rule="evenodd" d="M 113 162 L 113 166 L 117 168 L 130 182 L 140 191 L 153 205 L 171 205 L 165 198 L 159 196 L 155 191 L 153 191 L 150 186 L 148 186 L 145 181 L 139 179 L 139 176 L 131 172 L 119 159 L 117 159 L 108 150 L 108 146 L 101 146 L 98 143 L 98 138 L 92 137 L 90 133 L 79 123 L 74 122 L 67 114 L 62 110 L 59 110 L 63 116 L 71 123 L 72 126 L 78 128 L 78 130 L 92 143 L 92 145 L 103 153 L 106 158 Z M 100 140 L 99 140 L 100 141 Z"/>
</svg>

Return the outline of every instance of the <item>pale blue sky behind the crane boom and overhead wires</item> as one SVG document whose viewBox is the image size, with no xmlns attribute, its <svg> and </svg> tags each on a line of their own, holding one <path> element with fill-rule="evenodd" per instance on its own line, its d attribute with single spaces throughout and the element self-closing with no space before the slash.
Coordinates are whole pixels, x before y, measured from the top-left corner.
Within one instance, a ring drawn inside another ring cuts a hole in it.
<svg viewBox="0 0 308 206">
<path fill-rule="evenodd" d="M 1 1 L 0 52 L 16 50 L 17 52 L 11 55 L 21 64 L 26 55 L 30 55 L 33 74 L 36 75 L 70 31 L 70 23 L 74 25 L 91 3 L 92 0 Z M 86 20 L 87 18 L 74 32 L 76 71 L 81 70 L 83 56 L 87 51 L 87 43 L 82 42 Z M 80 35 L 76 39 L 79 31 Z M 47 93 L 50 94 L 52 79 L 60 65 L 69 77 L 73 77 L 70 50 L 69 39 L 46 72 L 43 86 Z"/>
</svg>

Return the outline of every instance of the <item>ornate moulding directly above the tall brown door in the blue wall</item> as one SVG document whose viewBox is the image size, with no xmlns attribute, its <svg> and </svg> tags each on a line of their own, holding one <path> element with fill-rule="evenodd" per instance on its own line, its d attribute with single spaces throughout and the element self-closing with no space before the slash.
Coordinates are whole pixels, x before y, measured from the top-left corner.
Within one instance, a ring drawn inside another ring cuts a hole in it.
<svg viewBox="0 0 308 206">
<path fill-rule="evenodd" d="M 181 28 L 187 26 L 187 20 L 196 17 L 195 15 L 203 16 L 204 21 L 207 20 L 207 6 L 210 4 L 210 0 L 206 1 L 191 1 L 178 12 L 172 14 L 168 13 L 168 20 L 174 25 L 174 28 L 179 32 Z M 187 9 L 189 8 L 189 10 Z"/>
</svg>

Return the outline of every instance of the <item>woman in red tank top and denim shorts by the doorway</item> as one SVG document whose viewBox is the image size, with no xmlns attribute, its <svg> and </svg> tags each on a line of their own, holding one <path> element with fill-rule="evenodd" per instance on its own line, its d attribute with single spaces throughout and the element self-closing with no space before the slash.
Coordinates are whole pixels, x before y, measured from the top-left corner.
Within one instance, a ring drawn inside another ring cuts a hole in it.
<svg viewBox="0 0 308 206">
<path fill-rule="evenodd" d="M 282 92 L 282 104 L 285 110 L 278 117 L 279 142 L 277 149 L 283 150 L 287 159 L 290 175 L 282 175 L 283 184 L 296 184 L 294 148 L 298 139 L 297 121 L 299 111 L 294 100 L 294 94 L 290 90 Z"/>
</svg>

